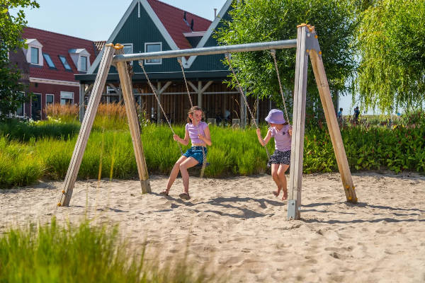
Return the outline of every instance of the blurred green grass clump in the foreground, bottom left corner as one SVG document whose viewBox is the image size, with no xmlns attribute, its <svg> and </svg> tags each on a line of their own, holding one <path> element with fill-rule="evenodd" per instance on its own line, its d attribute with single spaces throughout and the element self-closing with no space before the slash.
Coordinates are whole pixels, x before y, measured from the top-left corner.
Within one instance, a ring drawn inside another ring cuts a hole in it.
<svg viewBox="0 0 425 283">
<path fill-rule="evenodd" d="M 51 224 L 11 230 L 0 238 L 0 282 L 217 282 L 183 258 L 159 268 L 145 259 L 145 247 L 130 248 L 118 229 Z"/>
</svg>

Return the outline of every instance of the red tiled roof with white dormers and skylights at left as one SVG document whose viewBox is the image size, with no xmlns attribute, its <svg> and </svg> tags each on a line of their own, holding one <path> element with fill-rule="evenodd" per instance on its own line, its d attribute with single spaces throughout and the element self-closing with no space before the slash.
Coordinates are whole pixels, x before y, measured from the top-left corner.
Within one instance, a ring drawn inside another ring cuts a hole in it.
<svg viewBox="0 0 425 283">
<path fill-rule="evenodd" d="M 69 50 L 74 48 L 84 48 L 87 52 L 90 53 L 90 63 L 94 62 L 96 59 L 95 46 L 94 42 L 91 40 L 84 40 L 78 37 L 72 37 L 69 35 L 62 35 L 60 33 L 52 33 L 47 30 L 40 30 L 38 28 L 24 28 L 23 35 L 24 39 L 33 39 L 35 38 L 42 44 L 42 53 L 47 53 L 50 55 L 50 58 L 55 64 L 56 69 L 50 69 L 45 59 L 42 57 L 40 59 L 44 60 L 43 66 L 31 66 L 30 67 L 30 77 L 41 78 L 41 79 L 53 79 L 60 81 L 75 81 L 74 74 L 78 74 L 77 66 L 69 55 Z M 62 62 L 59 59 L 59 55 L 62 55 L 67 58 L 69 66 L 72 68 L 72 71 L 66 71 Z"/>
</svg>

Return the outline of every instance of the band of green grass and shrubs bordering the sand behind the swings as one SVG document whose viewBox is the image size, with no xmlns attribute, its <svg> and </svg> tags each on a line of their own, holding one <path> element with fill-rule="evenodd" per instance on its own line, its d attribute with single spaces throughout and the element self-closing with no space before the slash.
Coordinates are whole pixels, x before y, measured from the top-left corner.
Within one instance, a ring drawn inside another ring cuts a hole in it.
<svg viewBox="0 0 425 283">
<path fill-rule="evenodd" d="M 420 115 L 421 119 L 416 117 Z M 415 124 L 394 127 L 344 127 L 341 135 L 351 170 L 390 169 L 425 172 L 425 116 L 416 114 Z M 406 118 L 408 119 L 408 118 Z M 184 127 L 174 126 L 183 137 Z M 266 135 L 266 126 L 261 126 Z M 252 175 L 270 172 L 266 151 L 256 138 L 255 129 L 210 126 L 212 146 L 208 148 L 206 177 Z M 168 175 L 180 157 L 179 146 L 166 125 L 142 127 L 142 144 L 149 173 Z M 19 139 L 19 138 L 18 138 Z M 0 139 L 0 187 L 28 185 L 40 178 L 62 180 L 67 173 L 77 135 L 69 139 L 42 137 L 26 143 L 10 137 Z M 183 152 L 189 146 L 183 146 Z M 273 153 L 274 142 L 267 145 Z M 334 149 L 326 125 L 305 132 L 304 173 L 338 171 Z M 100 175 L 99 175 L 100 171 Z M 198 175 L 199 168 L 190 169 Z M 94 131 L 84 153 L 79 178 L 137 178 L 137 164 L 130 132 Z"/>
</svg>

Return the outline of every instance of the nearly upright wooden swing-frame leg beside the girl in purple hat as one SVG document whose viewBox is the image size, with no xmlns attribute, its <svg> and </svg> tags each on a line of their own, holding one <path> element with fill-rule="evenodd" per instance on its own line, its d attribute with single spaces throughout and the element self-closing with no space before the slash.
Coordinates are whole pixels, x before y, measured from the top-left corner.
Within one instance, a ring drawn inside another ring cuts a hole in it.
<svg viewBox="0 0 425 283">
<path fill-rule="evenodd" d="M 295 64 L 293 135 L 290 151 L 288 219 L 300 219 L 308 63 L 307 52 L 305 52 L 306 28 L 306 26 L 299 26 L 297 28 L 297 61 Z"/>
</svg>

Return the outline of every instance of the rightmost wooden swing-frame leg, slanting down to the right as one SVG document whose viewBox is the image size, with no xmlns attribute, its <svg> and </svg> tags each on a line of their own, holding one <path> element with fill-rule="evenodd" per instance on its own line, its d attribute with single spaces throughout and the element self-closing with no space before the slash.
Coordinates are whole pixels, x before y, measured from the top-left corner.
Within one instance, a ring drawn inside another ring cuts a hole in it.
<svg viewBox="0 0 425 283">
<path fill-rule="evenodd" d="M 338 121 L 334 109 L 334 103 L 329 91 L 327 76 L 324 71 L 322 57 L 317 54 L 316 50 L 310 50 L 310 60 L 312 62 L 312 69 L 314 77 L 316 78 L 317 88 L 319 88 L 320 100 L 322 101 L 324 116 L 331 136 L 332 145 L 336 156 L 336 163 L 338 163 L 339 173 L 341 173 L 342 185 L 346 193 L 347 202 L 357 202 L 355 187 L 353 179 L 351 178 L 350 167 L 346 157 L 344 144 L 339 131 Z"/>
</svg>

